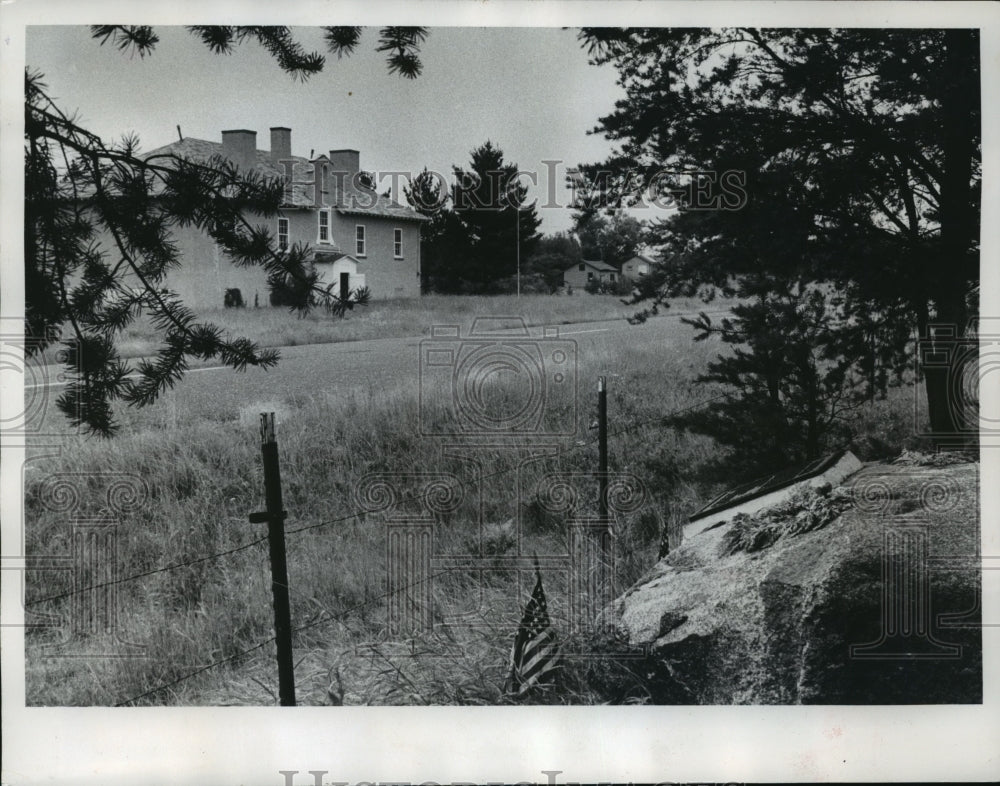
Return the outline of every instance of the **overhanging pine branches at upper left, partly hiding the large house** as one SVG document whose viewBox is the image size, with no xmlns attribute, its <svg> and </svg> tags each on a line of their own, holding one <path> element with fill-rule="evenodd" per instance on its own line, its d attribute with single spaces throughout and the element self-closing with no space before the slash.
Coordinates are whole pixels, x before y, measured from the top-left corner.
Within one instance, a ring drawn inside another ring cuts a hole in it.
<svg viewBox="0 0 1000 786">
<path fill-rule="evenodd" d="M 358 27 L 324 30 L 338 56 L 353 52 L 362 33 Z M 295 78 L 324 66 L 324 57 L 306 51 L 287 28 L 191 31 L 217 53 L 256 41 Z M 155 30 L 145 26 L 101 25 L 92 33 L 126 54 L 147 56 L 158 43 Z M 423 28 L 379 31 L 377 49 L 386 53 L 390 72 L 417 76 L 425 35 Z M 197 228 L 236 264 L 263 267 L 273 287 L 299 294 L 294 305 L 301 311 L 320 303 L 342 315 L 359 302 L 356 295 L 337 298 L 317 283 L 307 248 L 279 253 L 266 226 L 247 219 L 277 214 L 282 182 L 241 172 L 221 158 L 208 165 L 176 157 L 146 160 L 134 138 L 108 144 L 58 107 L 35 72 L 26 74 L 24 133 L 25 330 L 34 339 L 27 351 L 65 345 L 70 373 L 58 406 L 74 425 L 113 433 L 113 402 L 154 401 L 182 377 L 190 358 L 216 358 L 236 370 L 277 362 L 274 350 L 197 321 L 164 290 L 168 271 L 183 261 L 174 228 Z M 111 248 L 98 244 L 102 235 L 111 238 Z M 115 341 L 140 314 L 158 331 L 160 348 L 152 360 L 133 365 L 119 357 Z"/>
</svg>

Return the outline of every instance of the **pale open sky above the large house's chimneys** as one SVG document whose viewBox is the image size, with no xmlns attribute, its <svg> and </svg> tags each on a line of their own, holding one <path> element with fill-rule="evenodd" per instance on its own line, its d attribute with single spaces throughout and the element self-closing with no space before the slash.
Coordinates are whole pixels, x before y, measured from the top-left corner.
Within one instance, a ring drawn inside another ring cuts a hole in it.
<svg viewBox="0 0 1000 786">
<path fill-rule="evenodd" d="M 450 176 L 452 165 L 467 167 L 470 152 L 491 140 L 522 172 L 538 173 L 534 195 L 547 233 L 571 222 L 570 209 L 542 207 L 550 179 L 556 201 L 567 204 L 567 167 L 611 152 L 608 140 L 587 132 L 623 95 L 614 69 L 589 65 L 571 29 L 431 28 L 415 80 L 389 74 L 375 52 L 377 30 L 366 29 L 353 55 L 328 55 L 304 83 L 254 42 L 216 55 L 182 27 L 156 32 L 156 49 L 139 58 L 101 46 L 85 26 L 33 26 L 26 61 L 81 125 L 105 139 L 135 133 L 144 150 L 175 141 L 178 125 L 186 137 L 216 142 L 223 129 L 255 130 L 258 148 L 267 149 L 268 129 L 287 126 L 296 155 L 355 148 L 363 169 L 427 167 Z M 325 52 L 320 31 L 295 33 Z M 380 190 L 389 184 L 386 177 Z"/>
</svg>

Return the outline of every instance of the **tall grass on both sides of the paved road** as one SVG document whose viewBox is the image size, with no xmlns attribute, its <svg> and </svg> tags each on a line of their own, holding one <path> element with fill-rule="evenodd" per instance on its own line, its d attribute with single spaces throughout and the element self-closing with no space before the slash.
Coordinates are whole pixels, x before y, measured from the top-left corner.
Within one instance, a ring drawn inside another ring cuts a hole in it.
<svg viewBox="0 0 1000 786">
<path fill-rule="evenodd" d="M 384 336 L 404 328 L 420 335 L 425 326 L 469 324 L 491 309 L 521 313 L 536 324 L 608 319 L 618 309 L 583 296 L 521 300 L 520 312 L 488 298 L 428 298 L 421 301 L 426 310 L 380 304 L 344 321 L 302 320 L 302 337 L 311 331 Z M 229 323 L 236 332 L 252 327 L 264 343 L 288 340 L 278 338 L 288 326 L 270 312 L 247 310 Z M 690 329 L 677 320 L 670 330 L 668 341 L 631 341 L 626 331 L 604 349 L 581 353 L 579 376 L 588 383 L 580 386 L 576 406 L 562 401 L 552 406 L 563 409 L 548 413 L 571 419 L 572 433 L 547 442 L 546 450 L 525 437 L 486 440 L 463 451 L 461 440 L 427 436 L 447 430 L 449 401 L 444 394 L 421 400 L 406 382 L 276 394 L 299 704 L 513 701 L 504 680 L 534 578 L 513 570 L 510 559 L 537 556 L 555 564 L 567 551 L 570 519 L 596 515 L 589 381 L 599 374 L 608 381 L 609 469 L 638 478 L 645 494 L 613 527 L 615 594 L 656 562 L 664 539 L 679 544 L 686 517 L 720 490 L 698 474 L 719 448 L 663 420 L 718 394 L 696 378 L 720 346 L 692 342 Z M 484 391 L 484 400 L 516 410 L 523 391 L 515 382 Z M 248 521 L 264 509 L 255 417 L 188 418 L 163 428 L 162 411 L 174 395 L 138 412 L 111 440 L 66 437 L 57 448 L 35 449 L 26 464 L 26 549 L 40 566 L 26 577 L 29 705 L 277 703 L 266 525 Z M 911 389 L 897 389 L 859 411 L 856 433 L 879 450 L 902 447 L 913 439 L 912 399 Z M 457 501 L 428 512 L 413 489 L 421 477 L 442 473 L 458 479 Z M 578 492 L 563 510 L 547 505 L 540 490 L 553 473 L 571 476 Z M 99 565 L 83 575 L 43 569 L 46 559 L 72 549 L 72 522 L 66 506 L 53 501 L 53 478 L 76 484 L 73 516 L 93 521 L 110 515 L 105 488 L 116 475 L 138 478 L 142 489 L 115 519 L 113 573 Z M 373 475 L 401 478 L 398 510 L 429 520 L 436 558 L 454 558 L 458 566 L 435 572 L 425 610 L 429 631 L 388 632 L 389 519 L 366 505 L 366 494 L 378 496 L 364 485 Z M 463 563 L 463 556 L 475 564 Z M 589 635 L 569 624 L 566 571 L 545 568 L 543 580 L 565 658 L 559 690 L 539 700 L 643 701 L 642 675 L 610 653 L 613 634 Z M 94 584 L 113 588 L 101 597 L 113 600 L 114 624 L 73 631 L 63 623 L 75 613 L 78 590 Z"/>
</svg>

